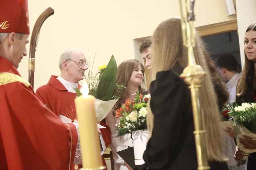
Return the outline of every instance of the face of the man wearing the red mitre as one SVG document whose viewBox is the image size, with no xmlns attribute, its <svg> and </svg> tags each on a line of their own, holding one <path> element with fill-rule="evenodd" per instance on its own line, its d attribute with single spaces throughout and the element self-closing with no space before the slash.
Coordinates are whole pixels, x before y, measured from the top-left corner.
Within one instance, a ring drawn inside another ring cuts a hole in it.
<svg viewBox="0 0 256 170">
<path fill-rule="evenodd" d="M 9 54 L 7 54 L 7 60 L 10 61 L 14 67 L 18 68 L 23 56 L 27 56 L 26 45 L 29 42 L 29 35 L 24 34 L 21 40 L 18 39 L 16 33 L 11 33 L 10 36 L 12 35 L 14 36 L 11 38 L 11 47 Z"/>
</svg>

